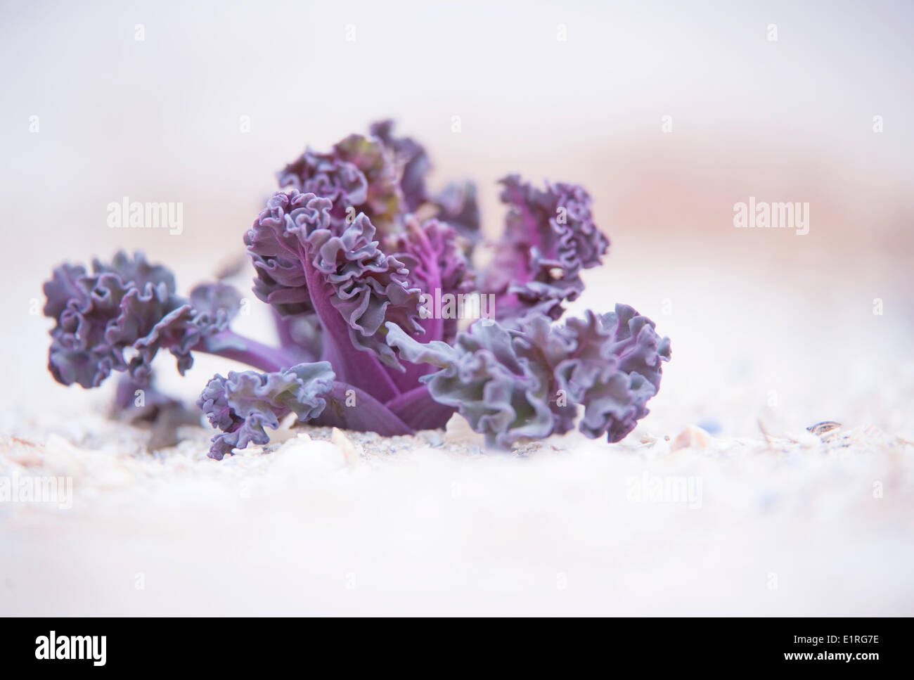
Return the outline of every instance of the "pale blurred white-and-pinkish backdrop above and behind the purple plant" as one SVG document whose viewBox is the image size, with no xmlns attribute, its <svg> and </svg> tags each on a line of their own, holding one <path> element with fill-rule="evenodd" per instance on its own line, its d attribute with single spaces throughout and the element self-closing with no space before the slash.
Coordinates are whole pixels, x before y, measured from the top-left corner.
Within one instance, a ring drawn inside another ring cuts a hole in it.
<svg viewBox="0 0 914 680">
<path fill-rule="evenodd" d="M 612 243 L 575 309 L 630 303 L 673 339 L 646 429 L 914 434 L 912 16 L 907 2 L 4 3 L 7 424 L 107 398 L 44 368 L 50 322 L 34 312 L 53 266 L 144 250 L 186 292 L 242 252 L 278 168 L 389 116 L 430 150 L 433 186 L 477 182 L 490 235 L 501 175 L 588 187 Z M 122 197 L 183 203 L 183 233 L 108 228 Z M 809 233 L 734 228 L 749 197 L 809 203 Z M 254 306 L 242 330 L 269 338 Z M 162 375 L 193 398 L 227 369 Z"/>
</svg>

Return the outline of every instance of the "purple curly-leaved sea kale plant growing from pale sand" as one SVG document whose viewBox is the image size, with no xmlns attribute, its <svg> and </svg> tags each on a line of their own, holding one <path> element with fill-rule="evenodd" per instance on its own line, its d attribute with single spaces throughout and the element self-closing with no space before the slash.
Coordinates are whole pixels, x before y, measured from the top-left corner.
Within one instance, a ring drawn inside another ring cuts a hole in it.
<svg viewBox="0 0 914 680">
<path fill-rule="evenodd" d="M 253 292 L 279 345 L 231 330 L 240 295 L 205 283 L 187 297 L 161 265 L 117 253 L 45 283 L 48 368 L 98 387 L 112 371 L 148 386 L 159 350 L 184 374 L 195 352 L 251 367 L 207 383 L 197 405 L 221 460 L 295 414 L 300 422 L 410 434 L 459 413 L 492 445 L 564 433 L 621 441 L 648 413 L 670 344 L 632 307 L 560 321 L 609 239 L 581 186 L 501 180 L 507 207 L 490 264 L 472 183 L 428 186 L 431 163 L 392 122 L 307 149 L 244 234 Z"/>
</svg>

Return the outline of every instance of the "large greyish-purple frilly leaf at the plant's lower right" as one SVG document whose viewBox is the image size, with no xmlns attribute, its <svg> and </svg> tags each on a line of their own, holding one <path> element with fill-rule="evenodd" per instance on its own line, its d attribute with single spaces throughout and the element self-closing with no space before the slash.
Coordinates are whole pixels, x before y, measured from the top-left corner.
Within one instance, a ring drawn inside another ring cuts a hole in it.
<svg viewBox="0 0 914 680">
<path fill-rule="evenodd" d="M 389 326 L 388 342 L 407 361 L 437 367 L 420 378 L 430 396 L 502 447 L 568 431 L 576 406 L 584 434 L 621 441 L 647 415 L 670 358 L 654 323 L 622 304 L 558 326 L 543 315 L 512 327 L 480 321 L 453 345 L 423 344 Z"/>
</svg>

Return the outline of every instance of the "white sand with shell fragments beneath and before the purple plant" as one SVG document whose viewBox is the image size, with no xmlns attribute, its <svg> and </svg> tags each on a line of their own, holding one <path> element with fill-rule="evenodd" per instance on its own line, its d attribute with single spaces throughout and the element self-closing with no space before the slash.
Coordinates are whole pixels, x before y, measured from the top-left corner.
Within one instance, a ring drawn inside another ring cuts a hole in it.
<svg viewBox="0 0 914 680">
<path fill-rule="evenodd" d="M 0 505 L 2 613 L 914 611 L 912 448 L 875 428 L 494 455 L 350 433 L 349 462 L 325 429 L 224 462 L 202 429 L 155 456 L 68 430 L 0 444 L 0 474 L 73 480 L 72 508 Z"/>
</svg>

